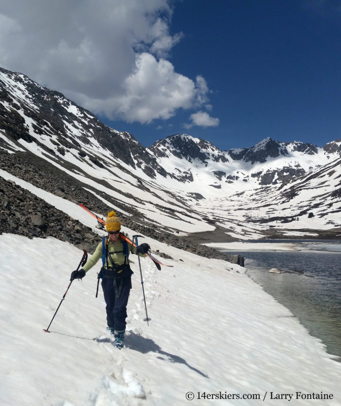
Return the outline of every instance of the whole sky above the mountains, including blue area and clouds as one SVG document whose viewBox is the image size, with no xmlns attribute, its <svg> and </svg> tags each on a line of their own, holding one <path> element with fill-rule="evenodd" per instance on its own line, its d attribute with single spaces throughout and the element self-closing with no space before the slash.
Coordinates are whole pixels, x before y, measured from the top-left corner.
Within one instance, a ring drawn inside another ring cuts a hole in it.
<svg viewBox="0 0 341 406">
<path fill-rule="evenodd" d="M 339 0 L 10 3 L 0 65 L 144 146 L 179 132 L 220 149 L 341 138 Z"/>
</svg>

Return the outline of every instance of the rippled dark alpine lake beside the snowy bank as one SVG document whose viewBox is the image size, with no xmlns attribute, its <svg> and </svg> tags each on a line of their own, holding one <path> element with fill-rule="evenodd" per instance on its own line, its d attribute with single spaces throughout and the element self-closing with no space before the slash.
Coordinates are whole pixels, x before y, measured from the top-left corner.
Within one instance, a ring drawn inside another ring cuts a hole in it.
<svg viewBox="0 0 341 406">
<path fill-rule="evenodd" d="M 258 240 L 294 243 L 298 251 L 225 251 L 245 257 L 247 275 L 288 308 L 341 361 L 341 241 Z M 297 247 L 296 247 L 297 248 Z M 270 273 L 278 268 L 281 273 Z"/>
</svg>

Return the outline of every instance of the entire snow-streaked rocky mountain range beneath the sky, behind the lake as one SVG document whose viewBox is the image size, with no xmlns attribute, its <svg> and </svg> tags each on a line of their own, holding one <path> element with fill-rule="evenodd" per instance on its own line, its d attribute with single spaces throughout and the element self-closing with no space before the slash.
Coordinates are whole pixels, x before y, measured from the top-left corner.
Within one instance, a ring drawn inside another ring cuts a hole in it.
<svg viewBox="0 0 341 406">
<path fill-rule="evenodd" d="M 0 69 L 0 154 L 5 180 L 100 215 L 114 208 L 159 239 L 341 233 L 341 140 L 320 148 L 266 138 L 221 151 L 175 134 L 144 148 L 62 94 Z"/>
</svg>

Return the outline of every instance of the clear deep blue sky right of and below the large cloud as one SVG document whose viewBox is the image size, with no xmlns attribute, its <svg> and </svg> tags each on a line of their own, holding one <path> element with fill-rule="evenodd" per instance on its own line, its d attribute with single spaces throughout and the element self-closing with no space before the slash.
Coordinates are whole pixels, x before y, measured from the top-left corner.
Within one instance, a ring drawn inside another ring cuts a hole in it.
<svg viewBox="0 0 341 406">
<path fill-rule="evenodd" d="M 145 146 L 177 132 L 221 149 L 250 147 L 265 137 L 319 146 L 341 138 L 341 8 L 311 6 L 290 0 L 176 2 L 170 27 L 184 36 L 169 60 L 178 72 L 207 81 L 210 115 L 219 125 L 186 129 L 183 109 L 148 125 L 107 123 Z"/>
</svg>

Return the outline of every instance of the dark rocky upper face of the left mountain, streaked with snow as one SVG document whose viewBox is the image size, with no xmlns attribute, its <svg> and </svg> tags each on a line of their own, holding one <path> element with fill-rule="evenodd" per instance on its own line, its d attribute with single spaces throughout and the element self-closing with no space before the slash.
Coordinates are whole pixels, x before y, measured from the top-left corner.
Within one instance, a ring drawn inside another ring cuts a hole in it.
<svg viewBox="0 0 341 406">
<path fill-rule="evenodd" d="M 113 156 L 131 166 L 146 166 L 148 175 L 155 170 L 164 174 L 152 155 L 128 132 L 119 132 L 101 123 L 89 111 L 76 106 L 61 93 L 46 89 L 24 75 L 0 68 L 0 128 L 14 141 L 20 139 L 39 145 L 49 155 L 78 154 L 103 167 L 106 161 L 84 147 L 101 145 Z M 44 139 L 42 143 L 41 139 Z"/>
</svg>

